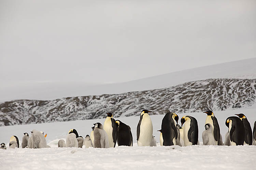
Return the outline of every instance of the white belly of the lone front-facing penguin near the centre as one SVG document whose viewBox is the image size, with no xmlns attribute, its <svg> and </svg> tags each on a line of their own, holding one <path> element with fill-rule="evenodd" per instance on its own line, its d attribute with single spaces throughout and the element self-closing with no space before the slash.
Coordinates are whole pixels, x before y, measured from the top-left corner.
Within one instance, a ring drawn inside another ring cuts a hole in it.
<svg viewBox="0 0 256 170">
<path fill-rule="evenodd" d="M 153 135 L 153 125 L 148 114 L 144 114 L 140 124 L 138 146 L 150 146 Z"/>
</svg>

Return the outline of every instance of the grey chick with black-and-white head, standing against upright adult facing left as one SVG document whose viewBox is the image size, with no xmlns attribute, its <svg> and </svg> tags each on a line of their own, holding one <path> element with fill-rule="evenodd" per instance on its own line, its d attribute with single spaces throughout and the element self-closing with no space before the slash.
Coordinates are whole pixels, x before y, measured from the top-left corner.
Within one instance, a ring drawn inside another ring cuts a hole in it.
<svg viewBox="0 0 256 170">
<path fill-rule="evenodd" d="M 212 125 L 207 123 L 204 125 L 205 131 L 202 133 L 203 145 L 216 145 L 212 134 Z"/>
</svg>

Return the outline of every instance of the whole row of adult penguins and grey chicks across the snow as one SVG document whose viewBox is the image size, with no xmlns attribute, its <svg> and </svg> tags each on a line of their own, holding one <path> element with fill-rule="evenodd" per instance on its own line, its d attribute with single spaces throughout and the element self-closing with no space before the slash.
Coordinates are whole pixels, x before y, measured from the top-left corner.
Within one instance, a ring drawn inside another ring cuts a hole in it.
<svg viewBox="0 0 256 170">
<path fill-rule="evenodd" d="M 156 139 L 153 136 L 153 124 L 148 111 L 143 109 L 137 125 L 138 146 L 156 146 Z M 218 120 L 212 111 L 203 112 L 207 114 L 205 119 L 205 131 L 202 133 L 203 145 L 256 145 L 256 121 L 253 131 L 246 116 L 242 113 L 235 114 L 226 119 L 225 125 L 228 128 L 225 134 L 225 142 L 222 141 Z M 118 146 L 133 146 L 132 133 L 129 125 L 120 120 L 115 120 L 112 113 L 106 113 L 107 117 L 102 125 L 100 122 L 94 123 L 91 127 L 90 135 L 85 138 L 79 136 L 75 129 L 68 132 L 66 141 L 60 139 L 58 147 L 77 148 L 111 148 Z M 199 145 L 197 120 L 185 115 L 181 118 L 181 125 L 178 124 L 179 116 L 175 113 L 166 113 L 162 119 L 160 132 L 160 146 L 179 145 L 190 146 Z M 47 134 L 46 134 L 47 135 Z M 46 135 L 43 132 L 32 130 L 31 135 L 24 133 L 22 137 L 22 148 L 47 148 Z M 12 136 L 9 148 L 19 148 L 17 136 Z M 0 149 L 6 149 L 5 143 L 1 143 Z"/>
</svg>

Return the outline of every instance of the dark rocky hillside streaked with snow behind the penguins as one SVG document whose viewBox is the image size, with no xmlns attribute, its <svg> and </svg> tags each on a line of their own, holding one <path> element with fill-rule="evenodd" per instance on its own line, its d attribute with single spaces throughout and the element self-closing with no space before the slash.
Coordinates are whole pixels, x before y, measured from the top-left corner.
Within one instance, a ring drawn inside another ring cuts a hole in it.
<svg viewBox="0 0 256 170">
<path fill-rule="evenodd" d="M 255 98 L 256 79 L 207 79 L 116 95 L 13 100 L 0 103 L 0 126 L 95 119 L 106 112 L 133 116 L 144 108 L 153 114 L 222 111 L 251 106 Z"/>
</svg>

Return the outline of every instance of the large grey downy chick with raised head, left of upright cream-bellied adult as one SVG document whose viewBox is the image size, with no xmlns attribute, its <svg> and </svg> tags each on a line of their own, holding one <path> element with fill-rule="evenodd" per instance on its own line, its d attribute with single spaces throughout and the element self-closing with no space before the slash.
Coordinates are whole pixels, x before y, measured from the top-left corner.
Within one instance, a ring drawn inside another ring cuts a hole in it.
<svg viewBox="0 0 256 170">
<path fill-rule="evenodd" d="M 106 131 L 103 129 L 101 123 L 95 123 L 94 134 L 94 148 L 109 148 L 109 138 Z"/>
</svg>

